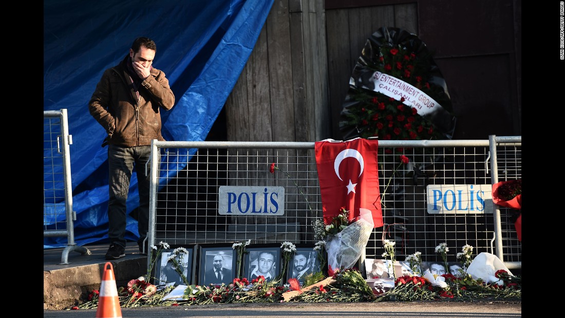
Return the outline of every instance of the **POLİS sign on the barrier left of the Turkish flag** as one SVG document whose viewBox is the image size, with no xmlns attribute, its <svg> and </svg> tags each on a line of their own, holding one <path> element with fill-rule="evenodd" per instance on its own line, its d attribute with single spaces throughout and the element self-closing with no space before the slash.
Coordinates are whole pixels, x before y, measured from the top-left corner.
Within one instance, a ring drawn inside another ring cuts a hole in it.
<svg viewBox="0 0 565 318">
<path fill-rule="evenodd" d="M 284 215 L 282 186 L 220 186 L 220 215 Z"/>
</svg>

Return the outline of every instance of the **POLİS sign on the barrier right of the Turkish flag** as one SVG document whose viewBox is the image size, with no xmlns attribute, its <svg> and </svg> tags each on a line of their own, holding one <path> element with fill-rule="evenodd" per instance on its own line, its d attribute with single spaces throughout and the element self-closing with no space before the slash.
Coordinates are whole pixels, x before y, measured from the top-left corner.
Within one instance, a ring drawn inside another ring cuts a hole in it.
<svg viewBox="0 0 565 318">
<path fill-rule="evenodd" d="M 428 214 L 492 214 L 492 185 L 428 185 Z"/>
</svg>

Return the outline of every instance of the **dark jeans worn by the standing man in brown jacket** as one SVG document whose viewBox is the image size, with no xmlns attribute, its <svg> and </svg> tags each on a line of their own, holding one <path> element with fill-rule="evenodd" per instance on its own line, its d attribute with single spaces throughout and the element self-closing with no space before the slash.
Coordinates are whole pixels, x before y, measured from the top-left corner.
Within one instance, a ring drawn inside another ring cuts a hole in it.
<svg viewBox="0 0 565 318">
<path fill-rule="evenodd" d="M 141 245 L 149 229 L 149 181 L 151 146 L 123 147 L 108 145 L 108 237 L 110 243 L 125 247 L 126 201 L 129 182 L 135 168 L 140 198 L 138 231 Z"/>
</svg>

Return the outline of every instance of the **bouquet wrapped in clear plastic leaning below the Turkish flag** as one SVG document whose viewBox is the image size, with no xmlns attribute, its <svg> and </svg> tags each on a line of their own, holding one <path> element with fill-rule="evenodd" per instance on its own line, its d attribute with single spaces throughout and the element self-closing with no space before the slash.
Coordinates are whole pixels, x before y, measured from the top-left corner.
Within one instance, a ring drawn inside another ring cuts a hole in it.
<svg viewBox="0 0 565 318">
<path fill-rule="evenodd" d="M 367 246 L 373 231 L 371 210 L 359 208 L 359 216 L 341 232 L 328 235 L 325 249 L 328 251 L 328 265 L 331 268 L 351 268 Z"/>
</svg>

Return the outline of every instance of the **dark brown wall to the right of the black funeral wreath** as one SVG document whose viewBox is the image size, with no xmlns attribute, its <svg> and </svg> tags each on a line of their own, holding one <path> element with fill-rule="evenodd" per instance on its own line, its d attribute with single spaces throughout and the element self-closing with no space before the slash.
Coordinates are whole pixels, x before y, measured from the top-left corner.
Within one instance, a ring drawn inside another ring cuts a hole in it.
<svg viewBox="0 0 565 318">
<path fill-rule="evenodd" d="M 420 38 L 435 51 L 454 104 L 454 139 L 521 135 L 517 12 L 513 0 L 418 1 Z"/>
</svg>

